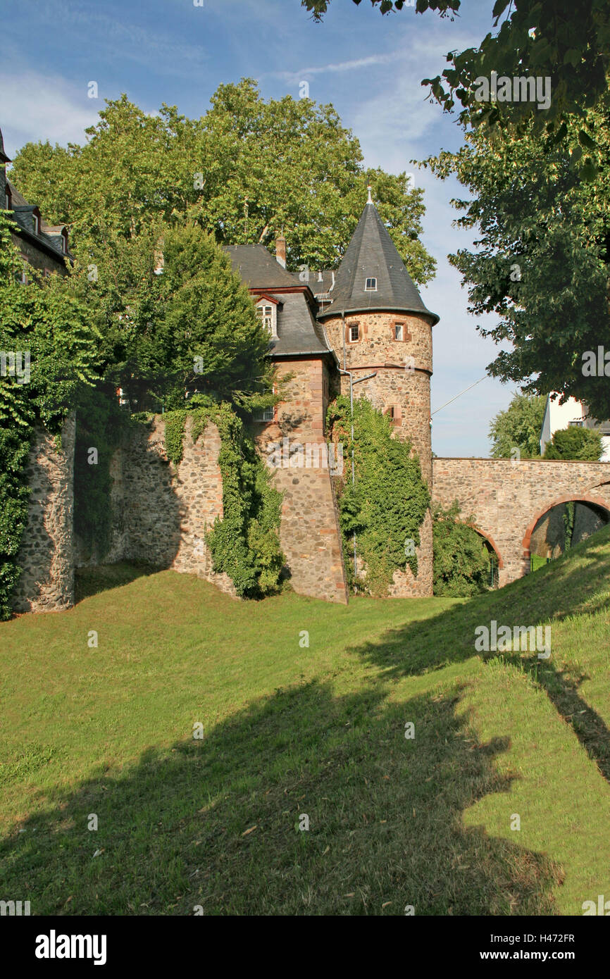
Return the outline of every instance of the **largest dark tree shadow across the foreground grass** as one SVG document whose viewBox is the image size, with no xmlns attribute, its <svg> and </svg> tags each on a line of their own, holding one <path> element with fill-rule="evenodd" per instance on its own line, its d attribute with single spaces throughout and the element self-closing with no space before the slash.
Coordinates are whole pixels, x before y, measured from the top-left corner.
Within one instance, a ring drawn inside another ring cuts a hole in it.
<svg viewBox="0 0 610 979">
<path fill-rule="evenodd" d="M 2 896 L 32 914 L 552 914 L 557 867 L 463 825 L 510 779 L 493 765 L 508 739 L 479 744 L 457 693 L 277 690 L 58 792 L 2 844 Z"/>
</svg>

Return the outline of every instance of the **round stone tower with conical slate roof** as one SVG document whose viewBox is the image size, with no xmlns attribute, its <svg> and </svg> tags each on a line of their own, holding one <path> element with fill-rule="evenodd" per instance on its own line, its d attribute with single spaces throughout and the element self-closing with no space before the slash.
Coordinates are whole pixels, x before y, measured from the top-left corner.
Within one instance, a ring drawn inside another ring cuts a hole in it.
<svg viewBox="0 0 610 979">
<path fill-rule="evenodd" d="M 392 416 L 397 438 L 416 450 L 432 491 L 430 377 L 432 327 L 439 316 L 426 308 L 370 197 L 337 271 L 332 303 L 318 318 L 343 370 L 358 376 L 354 397 L 366 396 Z M 341 392 L 350 378 L 341 375 Z M 418 575 L 395 576 L 393 594 L 432 594 L 432 522 L 426 517 L 418 550 Z"/>
</svg>

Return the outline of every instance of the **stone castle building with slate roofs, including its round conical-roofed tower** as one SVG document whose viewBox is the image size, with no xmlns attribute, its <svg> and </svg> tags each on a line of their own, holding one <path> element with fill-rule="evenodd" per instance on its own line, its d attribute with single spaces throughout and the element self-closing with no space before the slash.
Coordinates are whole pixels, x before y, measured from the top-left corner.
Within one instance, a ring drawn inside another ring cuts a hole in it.
<svg viewBox="0 0 610 979">
<path fill-rule="evenodd" d="M 329 401 L 340 392 L 349 395 L 351 384 L 373 375 L 362 380 L 354 396 L 366 396 L 391 416 L 396 437 L 412 444 L 432 489 L 432 327 L 439 317 L 422 302 L 370 192 L 337 272 L 309 273 L 307 281 L 303 273 L 289 272 L 283 237 L 275 258 L 262 245 L 225 251 L 269 331 L 269 355 L 279 379 L 290 377 L 286 398 L 258 419 L 258 447 L 269 454 L 269 446 L 281 446 L 276 485 L 284 492 L 282 546 L 300 579 L 299 590 L 319 595 L 321 565 L 329 565 L 329 555 L 324 562 L 319 551 L 331 542 L 336 546 L 337 539 L 332 474 L 330 466 L 326 472 L 319 466 L 297 472 L 301 446 L 325 445 Z M 417 578 L 409 568 L 397 571 L 393 595 L 432 594 L 430 514 L 420 536 Z M 341 563 L 341 554 L 330 555 L 337 571 L 330 589 L 345 600 Z M 310 590 L 301 580 L 309 576 Z"/>
</svg>

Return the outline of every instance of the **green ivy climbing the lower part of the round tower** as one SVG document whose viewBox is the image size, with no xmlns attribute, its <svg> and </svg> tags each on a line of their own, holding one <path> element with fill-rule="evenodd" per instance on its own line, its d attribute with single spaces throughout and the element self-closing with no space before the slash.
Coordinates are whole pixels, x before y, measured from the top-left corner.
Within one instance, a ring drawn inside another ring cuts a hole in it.
<svg viewBox="0 0 610 979">
<path fill-rule="evenodd" d="M 419 459 L 408 442 L 393 438 L 390 418 L 360 397 L 353 402 L 353 458 L 355 485 L 351 482 L 350 398 L 339 396 L 329 405 L 327 421 L 335 443 L 344 444 L 346 472 L 338 483 L 341 529 L 346 554 L 356 550 L 364 562 L 363 581 L 354 582 L 352 563 L 347 562 L 352 585 L 373 595 L 387 594 L 395 571 L 410 567 L 417 575 L 415 547 L 419 529 L 430 503 L 422 479 Z"/>
</svg>

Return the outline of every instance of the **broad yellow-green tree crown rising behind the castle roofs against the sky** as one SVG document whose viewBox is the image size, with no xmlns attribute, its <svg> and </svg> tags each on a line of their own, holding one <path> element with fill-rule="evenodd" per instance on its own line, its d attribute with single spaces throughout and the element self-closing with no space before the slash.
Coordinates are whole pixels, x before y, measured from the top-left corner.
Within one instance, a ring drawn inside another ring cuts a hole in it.
<svg viewBox="0 0 610 979">
<path fill-rule="evenodd" d="M 109 236 L 134 238 L 186 217 L 219 244 L 264 244 L 282 229 L 293 270 L 337 265 L 370 184 L 415 282 L 434 259 L 418 240 L 423 191 L 405 173 L 367 169 L 357 139 L 330 105 L 285 96 L 265 102 L 256 83 L 221 85 L 199 119 L 163 106 L 147 116 L 126 96 L 108 102 L 84 146 L 29 143 L 11 174 L 50 220 L 70 223 L 82 260 Z"/>
</svg>

